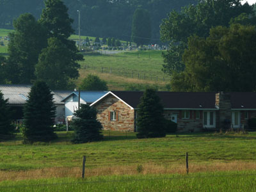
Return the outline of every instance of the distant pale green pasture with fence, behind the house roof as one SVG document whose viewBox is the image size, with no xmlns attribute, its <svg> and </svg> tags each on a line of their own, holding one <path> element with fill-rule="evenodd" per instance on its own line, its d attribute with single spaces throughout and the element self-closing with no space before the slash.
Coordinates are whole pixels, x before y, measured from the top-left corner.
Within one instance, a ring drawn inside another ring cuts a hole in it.
<svg viewBox="0 0 256 192">
<path fill-rule="evenodd" d="M 81 63 L 80 77 L 95 74 L 107 81 L 109 90 L 167 90 L 170 77 L 162 71 L 161 51 L 131 51 L 118 54 L 88 54 Z"/>
</svg>

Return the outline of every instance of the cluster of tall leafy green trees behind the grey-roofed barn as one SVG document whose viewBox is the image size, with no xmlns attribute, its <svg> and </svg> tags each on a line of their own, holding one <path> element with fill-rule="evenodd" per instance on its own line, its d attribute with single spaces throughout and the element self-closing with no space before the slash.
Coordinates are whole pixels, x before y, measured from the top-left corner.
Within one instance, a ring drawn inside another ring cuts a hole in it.
<svg viewBox="0 0 256 192">
<path fill-rule="evenodd" d="M 45 1 L 40 19 L 24 13 L 13 21 L 8 57 L 0 56 L 0 83 L 31 84 L 45 81 L 51 89 L 67 89 L 79 76 L 77 63 L 83 60 L 76 43 L 73 20 L 61 0 Z"/>
</svg>

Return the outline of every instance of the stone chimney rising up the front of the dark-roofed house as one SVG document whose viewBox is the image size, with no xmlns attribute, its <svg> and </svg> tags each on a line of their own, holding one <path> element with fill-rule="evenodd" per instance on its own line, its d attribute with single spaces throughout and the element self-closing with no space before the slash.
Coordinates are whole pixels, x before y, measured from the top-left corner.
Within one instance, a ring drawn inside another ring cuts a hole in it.
<svg viewBox="0 0 256 192">
<path fill-rule="evenodd" d="M 216 114 L 216 128 L 229 128 L 231 123 L 230 93 L 216 93 L 215 105 L 219 108 L 219 111 Z"/>
</svg>

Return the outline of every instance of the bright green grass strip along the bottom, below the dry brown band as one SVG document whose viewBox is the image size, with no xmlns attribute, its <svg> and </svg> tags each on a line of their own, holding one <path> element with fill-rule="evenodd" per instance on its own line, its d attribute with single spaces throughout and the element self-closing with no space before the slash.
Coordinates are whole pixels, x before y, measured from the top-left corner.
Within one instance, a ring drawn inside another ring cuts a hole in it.
<svg viewBox="0 0 256 192">
<path fill-rule="evenodd" d="M 189 175 L 111 175 L 86 179 L 33 179 L 0 182 L 0 191 L 256 191 L 255 175 L 255 171 L 243 171 Z"/>
</svg>

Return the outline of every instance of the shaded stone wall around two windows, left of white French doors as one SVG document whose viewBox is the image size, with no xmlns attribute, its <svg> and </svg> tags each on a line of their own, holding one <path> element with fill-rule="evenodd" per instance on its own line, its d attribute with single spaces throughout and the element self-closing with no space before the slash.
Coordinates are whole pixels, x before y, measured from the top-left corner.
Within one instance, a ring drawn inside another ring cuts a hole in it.
<svg viewBox="0 0 256 192">
<path fill-rule="evenodd" d="M 189 119 L 182 118 L 181 110 L 164 110 L 164 117 L 171 119 L 172 115 L 177 115 L 177 132 L 198 132 L 203 128 L 203 111 L 200 111 L 200 118 L 196 118 L 196 111 L 189 111 Z"/>
</svg>

